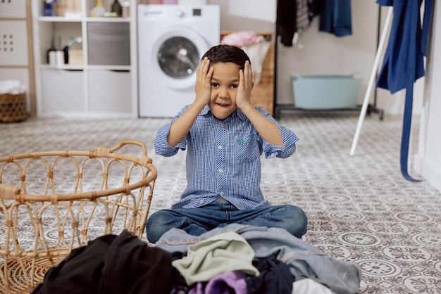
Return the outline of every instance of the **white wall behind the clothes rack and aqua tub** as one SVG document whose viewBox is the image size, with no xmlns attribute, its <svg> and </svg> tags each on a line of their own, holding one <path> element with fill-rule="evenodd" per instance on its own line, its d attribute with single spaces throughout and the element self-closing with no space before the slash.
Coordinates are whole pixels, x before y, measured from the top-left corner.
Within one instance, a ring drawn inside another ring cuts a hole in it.
<svg viewBox="0 0 441 294">
<path fill-rule="evenodd" d="M 246 1 L 246 0 L 234 0 Z M 268 1 L 268 0 L 266 0 Z M 229 1 L 209 0 L 208 4 L 221 6 L 221 30 L 265 30 L 275 32 L 275 23 L 238 17 L 231 12 Z M 335 37 L 333 34 L 318 31 L 319 18 L 311 27 L 299 34 L 295 46 L 278 44 L 277 97 L 278 104 L 292 104 L 292 71 L 300 75 L 347 75 L 361 72 L 364 77 L 359 97 L 364 99 L 369 76 L 373 67 L 377 46 L 378 4 L 375 1 L 352 1 L 352 35 Z M 249 13 L 253 13 L 249 6 Z M 258 8 L 254 11 L 259 13 Z M 270 12 L 268 12 L 270 13 Z M 384 23 L 387 8 L 382 8 Z M 273 14 L 273 12 L 271 12 Z M 421 112 L 423 78 L 418 80 L 414 90 L 414 114 Z M 377 90 L 377 107 L 386 114 L 400 114 L 404 110 L 404 91 L 391 95 L 389 91 Z M 370 97 L 373 103 L 373 95 Z"/>
</svg>

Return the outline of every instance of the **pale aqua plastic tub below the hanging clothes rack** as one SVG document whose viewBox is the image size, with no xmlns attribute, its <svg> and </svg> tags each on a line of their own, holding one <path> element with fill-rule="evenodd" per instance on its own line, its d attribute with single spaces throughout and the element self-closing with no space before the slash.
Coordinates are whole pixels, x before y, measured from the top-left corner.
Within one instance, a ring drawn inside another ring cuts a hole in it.
<svg viewBox="0 0 441 294">
<path fill-rule="evenodd" d="M 361 75 L 306 75 L 291 73 L 294 106 L 307 110 L 355 108 Z"/>
</svg>

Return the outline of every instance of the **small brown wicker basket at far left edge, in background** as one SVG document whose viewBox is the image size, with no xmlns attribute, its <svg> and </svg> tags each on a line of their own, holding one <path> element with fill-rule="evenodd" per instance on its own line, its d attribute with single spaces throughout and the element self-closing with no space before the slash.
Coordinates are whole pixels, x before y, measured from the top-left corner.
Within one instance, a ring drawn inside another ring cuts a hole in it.
<svg viewBox="0 0 441 294">
<path fill-rule="evenodd" d="M 26 118 L 25 94 L 0 94 L 0 122 L 22 122 Z"/>
</svg>

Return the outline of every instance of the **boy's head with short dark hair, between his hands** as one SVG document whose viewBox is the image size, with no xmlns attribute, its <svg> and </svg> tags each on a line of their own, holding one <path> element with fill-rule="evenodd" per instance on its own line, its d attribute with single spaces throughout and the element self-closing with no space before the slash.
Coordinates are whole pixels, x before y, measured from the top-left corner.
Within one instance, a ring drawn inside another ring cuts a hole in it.
<svg viewBox="0 0 441 294">
<path fill-rule="evenodd" d="M 215 117 L 219 120 L 225 120 L 237 109 L 239 72 L 244 70 L 245 62 L 249 61 L 249 57 L 239 47 L 218 45 L 209 49 L 202 60 L 204 58 L 210 60 L 210 67 L 213 68 L 209 108 Z"/>
</svg>

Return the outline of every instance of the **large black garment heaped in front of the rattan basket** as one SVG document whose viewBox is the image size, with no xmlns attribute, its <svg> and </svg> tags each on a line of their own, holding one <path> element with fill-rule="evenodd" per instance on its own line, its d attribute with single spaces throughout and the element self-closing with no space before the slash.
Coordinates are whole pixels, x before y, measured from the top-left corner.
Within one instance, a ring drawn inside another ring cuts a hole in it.
<svg viewBox="0 0 441 294">
<path fill-rule="evenodd" d="M 169 294 L 172 274 L 170 253 L 125 230 L 72 250 L 31 294 Z"/>
</svg>

